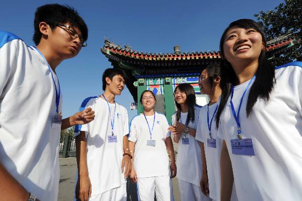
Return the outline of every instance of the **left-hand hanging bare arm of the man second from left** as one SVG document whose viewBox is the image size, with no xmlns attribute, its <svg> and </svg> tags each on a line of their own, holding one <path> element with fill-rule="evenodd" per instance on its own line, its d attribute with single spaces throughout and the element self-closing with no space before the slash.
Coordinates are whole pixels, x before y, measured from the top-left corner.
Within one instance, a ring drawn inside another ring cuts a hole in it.
<svg viewBox="0 0 302 201">
<path fill-rule="evenodd" d="M 80 200 L 88 200 L 91 196 L 91 182 L 87 165 L 87 141 L 85 131 L 75 137 L 75 147 L 77 153 L 78 181 L 75 187 L 75 197 Z"/>
</svg>

